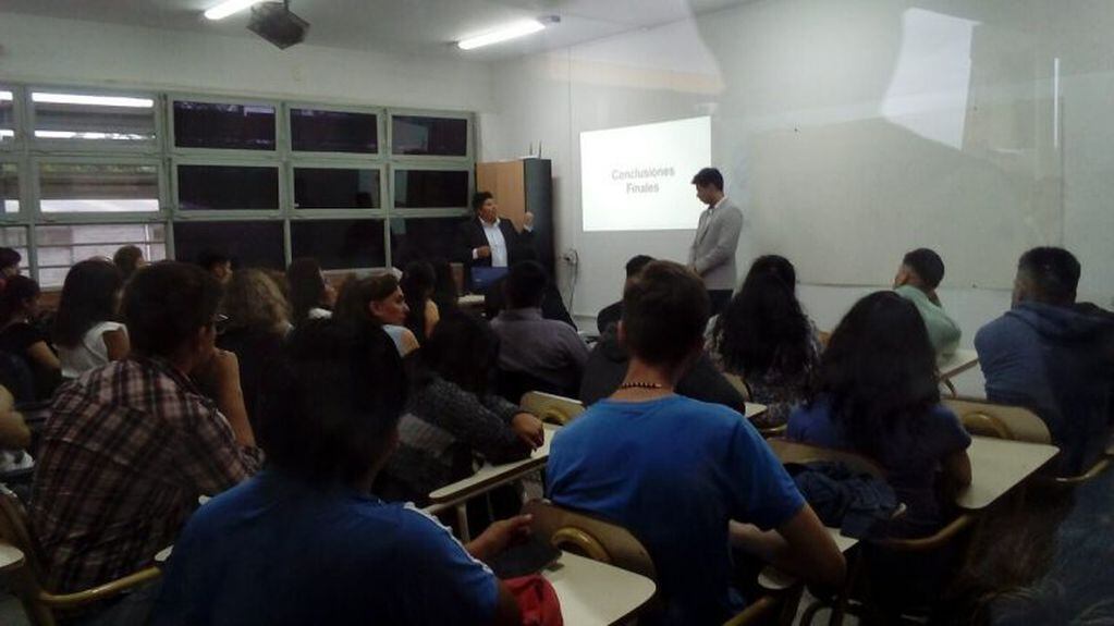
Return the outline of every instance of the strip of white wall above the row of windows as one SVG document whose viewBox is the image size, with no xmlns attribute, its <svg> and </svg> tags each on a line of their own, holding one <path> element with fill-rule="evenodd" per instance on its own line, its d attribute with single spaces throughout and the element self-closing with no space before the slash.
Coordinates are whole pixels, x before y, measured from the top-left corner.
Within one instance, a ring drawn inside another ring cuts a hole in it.
<svg viewBox="0 0 1114 626">
<path fill-rule="evenodd" d="M 0 13 L 0 79 L 487 110 L 490 68 L 418 57 Z"/>
</svg>

